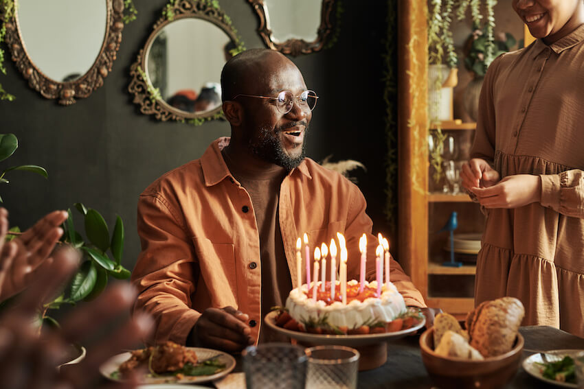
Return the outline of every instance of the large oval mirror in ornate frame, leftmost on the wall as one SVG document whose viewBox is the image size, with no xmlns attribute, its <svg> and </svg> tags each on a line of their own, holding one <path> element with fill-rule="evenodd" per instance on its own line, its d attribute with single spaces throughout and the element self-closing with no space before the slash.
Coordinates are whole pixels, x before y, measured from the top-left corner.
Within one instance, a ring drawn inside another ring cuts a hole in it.
<svg viewBox="0 0 584 389">
<path fill-rule="evenodd" d="M 6 21 L 5 42 L 32 89 L 70 105 L 103 85 L 122 40 L 124 0 L 17 5 Z"/>
</svg>

